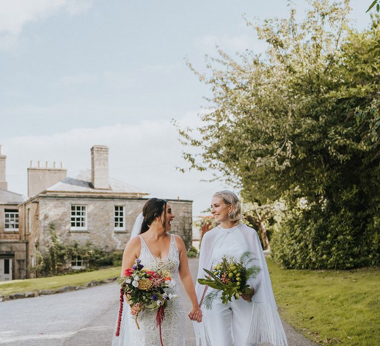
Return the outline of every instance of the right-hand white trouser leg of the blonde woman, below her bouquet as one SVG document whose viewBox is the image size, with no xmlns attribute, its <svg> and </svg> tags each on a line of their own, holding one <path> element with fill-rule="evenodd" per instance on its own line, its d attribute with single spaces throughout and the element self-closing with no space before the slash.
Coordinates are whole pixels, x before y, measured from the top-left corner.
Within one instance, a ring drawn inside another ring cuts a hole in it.
<svg viewBox="0 0 380 346">
<path fill-rule="evenodd" d="M 249 303 L 240 298 L 238 301 L 234 298 L 231 302 L 232 309 L 232 334 L 236 346 L 256 346 L 246 342 L 249 331 L 249 322 L 251 319 L 253 303 Z"/>
</svg>

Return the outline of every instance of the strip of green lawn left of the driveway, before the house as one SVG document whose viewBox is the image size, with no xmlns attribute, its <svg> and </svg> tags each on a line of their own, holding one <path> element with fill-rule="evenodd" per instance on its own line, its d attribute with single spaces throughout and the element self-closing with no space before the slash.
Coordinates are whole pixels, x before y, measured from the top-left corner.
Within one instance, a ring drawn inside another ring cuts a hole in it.
<svg viewBox="0 0 380 346">
<path fill-rule="evenodd" d="M 81 286 L 90 281 L 100 281 L 120 275 L 120 267 L 87 271 L 84 273 L 50 276 L 38 279 L 12 280 L 0 282 L 0 295 L 24 293 L 35 290 L 54 290 L 63 286 Z M 116 281 L 115 281 L 116 284 Z"/>
</svg>

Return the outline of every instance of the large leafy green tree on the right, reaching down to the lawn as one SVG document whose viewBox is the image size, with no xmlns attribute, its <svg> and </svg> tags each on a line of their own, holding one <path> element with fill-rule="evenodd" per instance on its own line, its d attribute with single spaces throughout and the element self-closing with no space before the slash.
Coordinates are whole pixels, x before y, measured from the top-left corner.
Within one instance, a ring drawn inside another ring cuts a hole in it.
<svg viewBox="0 0 380 346">
<path fill-rule="evenodd" d="M 274 258 L 286 267 L 379 265 L 380 39 L 378 19 L 357 32 L 348 1 L 313 1 L 297 23 L 268 19 L 253 26 L 268 43 L 209 58 L 199 79 L 210 86 L 211 111 L 200 137 L 181 129 L 192 168 L 215 169 L 246 201 L 287 212 L 272 235 Z M 190 65 L 190 68 L 192 66 Z"/>
</svg>

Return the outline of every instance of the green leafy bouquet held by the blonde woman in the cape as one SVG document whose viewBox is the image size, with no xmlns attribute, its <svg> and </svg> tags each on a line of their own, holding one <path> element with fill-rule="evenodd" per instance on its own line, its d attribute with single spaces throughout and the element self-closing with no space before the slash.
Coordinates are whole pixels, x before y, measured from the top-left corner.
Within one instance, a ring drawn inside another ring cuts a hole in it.
<svg viewBox="0 0 380 346">
<path fill-rule="evenodd" d="M 261 271 L 259 266 L 252 265 L 255 260 L 252 255 L 250 251 L 246 251 L 239 260 L 233 257 L 223 257 L 222 262 L 218 263 L 213 271 L 203 268 L 208 275 L 205 275 L 205 279 L 198 279 L 198 282 L 213 288 L 203 298 L 203 305 L 206 309 L 212 308 L 212 303 L 219 291 L 222 291 L 222 303 L 224 304 L 231 302 L 233 297 L 238 300 L 242 294 L 251 294 L 247 282 L 256 278 Z"/>
</svg>

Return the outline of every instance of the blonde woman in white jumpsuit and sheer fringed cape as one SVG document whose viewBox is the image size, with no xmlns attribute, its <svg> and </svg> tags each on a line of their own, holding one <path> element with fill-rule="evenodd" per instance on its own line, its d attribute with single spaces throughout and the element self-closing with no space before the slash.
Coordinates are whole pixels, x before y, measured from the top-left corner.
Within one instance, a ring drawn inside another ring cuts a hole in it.
<svg viewBox="0 0 380 346">
<path fill-rule="evenodd" d="M 204 278 L 203 268 L 212 270 L 223 256 L 239 259 L 246 251 L 253 253 L 253 264 L 261 271 L 248 282 L 250 295 L 242 295 L 239 300 L 233 298 L 228 304 L 223 304 L 219 295 L 211 310 L 202 306 L 210 288 L 196 284 L 198 304 L 203 311 L 203 321 L 194 323 L 196 345 L 257 346 L 269 343 L 287 346 L 259 236 L 253 228 L 238 222 L 241 218 L 238 197 L 227 190 L 216 192 L 211 201 L 211 213 L 220 225 L 203 236 L 197 278 Z"/>
</svg>

